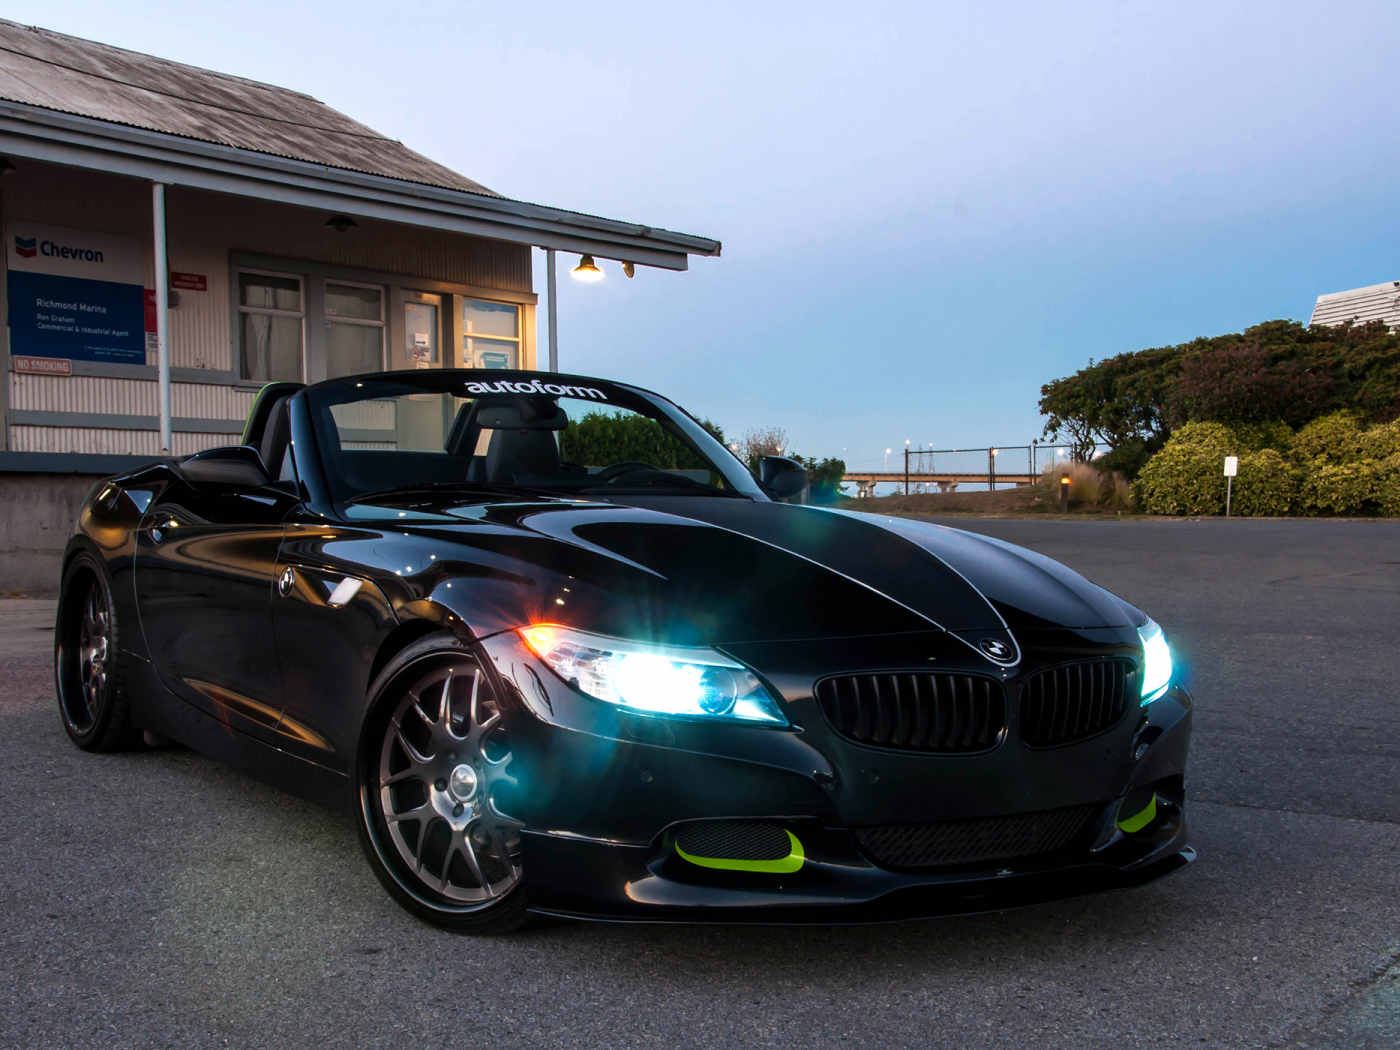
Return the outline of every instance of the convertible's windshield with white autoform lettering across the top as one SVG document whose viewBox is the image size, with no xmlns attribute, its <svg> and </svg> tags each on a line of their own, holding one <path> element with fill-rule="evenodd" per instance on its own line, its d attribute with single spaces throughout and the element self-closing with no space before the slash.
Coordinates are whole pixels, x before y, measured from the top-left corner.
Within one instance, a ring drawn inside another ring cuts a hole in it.
<svg viewBox="0 0 1400 1050">
<path fill-rule="evenodd" d="M 307 402 L 337 503 L 458 486 L 764 498 L 679 407 L 601 379 L 396 372 L 318 384 Z"/>
</svg>

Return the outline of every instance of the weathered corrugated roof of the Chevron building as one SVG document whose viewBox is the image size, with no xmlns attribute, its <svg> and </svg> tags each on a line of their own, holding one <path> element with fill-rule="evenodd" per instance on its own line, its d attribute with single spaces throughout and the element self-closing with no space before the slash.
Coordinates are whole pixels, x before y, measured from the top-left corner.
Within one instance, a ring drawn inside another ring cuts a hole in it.
<svg viewBox="0 0 1400 1050">
<path fill-rule="evenodd" d="M 500 196 L 300 91 L 4 20 L 0 98 L 347 171 Z"/>
</svg>

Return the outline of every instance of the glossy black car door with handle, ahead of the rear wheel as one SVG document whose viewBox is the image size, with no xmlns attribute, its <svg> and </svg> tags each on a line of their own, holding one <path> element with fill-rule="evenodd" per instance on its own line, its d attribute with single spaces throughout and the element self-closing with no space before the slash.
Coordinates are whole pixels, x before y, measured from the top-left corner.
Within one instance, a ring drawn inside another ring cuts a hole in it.
<svg viewBox="0 0 1400 1050">
<path fill-rule="evenodd" d="M 281 669 L 272 599 L 283 521 L 298 501 L 176 482 L 147 508 L 136 602 L 164 685 L 225 725 L 273 739 Z"/>
</svg>

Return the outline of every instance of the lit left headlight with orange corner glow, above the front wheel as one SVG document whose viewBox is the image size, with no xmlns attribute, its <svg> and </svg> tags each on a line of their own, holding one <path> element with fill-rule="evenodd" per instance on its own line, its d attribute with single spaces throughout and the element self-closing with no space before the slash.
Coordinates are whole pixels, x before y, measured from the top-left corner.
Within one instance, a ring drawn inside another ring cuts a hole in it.
<svg viewBox="0 0 1400 1050">
<path fill-rule="evenodd" d="M 519 634 L 556 675 L 595 700 L 637 714 L 788 724 L 753 672 L 718 650 L 624 641 L 554 624 L 521 627 Z"/>
</svg>

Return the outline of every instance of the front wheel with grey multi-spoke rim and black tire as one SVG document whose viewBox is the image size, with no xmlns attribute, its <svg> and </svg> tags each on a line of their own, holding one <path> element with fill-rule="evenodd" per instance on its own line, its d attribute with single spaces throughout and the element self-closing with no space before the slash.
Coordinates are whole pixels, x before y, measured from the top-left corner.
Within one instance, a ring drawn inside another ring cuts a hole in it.
<svg viewBox="0 0 1400 1050">
<path fill-rule="evenodd" d="M 360 846 L 389 896 L 452 932 L 528 921 L 508 714 L 493 675 L 451 634 L 414 643 L 370 687 L 354 767 Z"/>
</svg>

